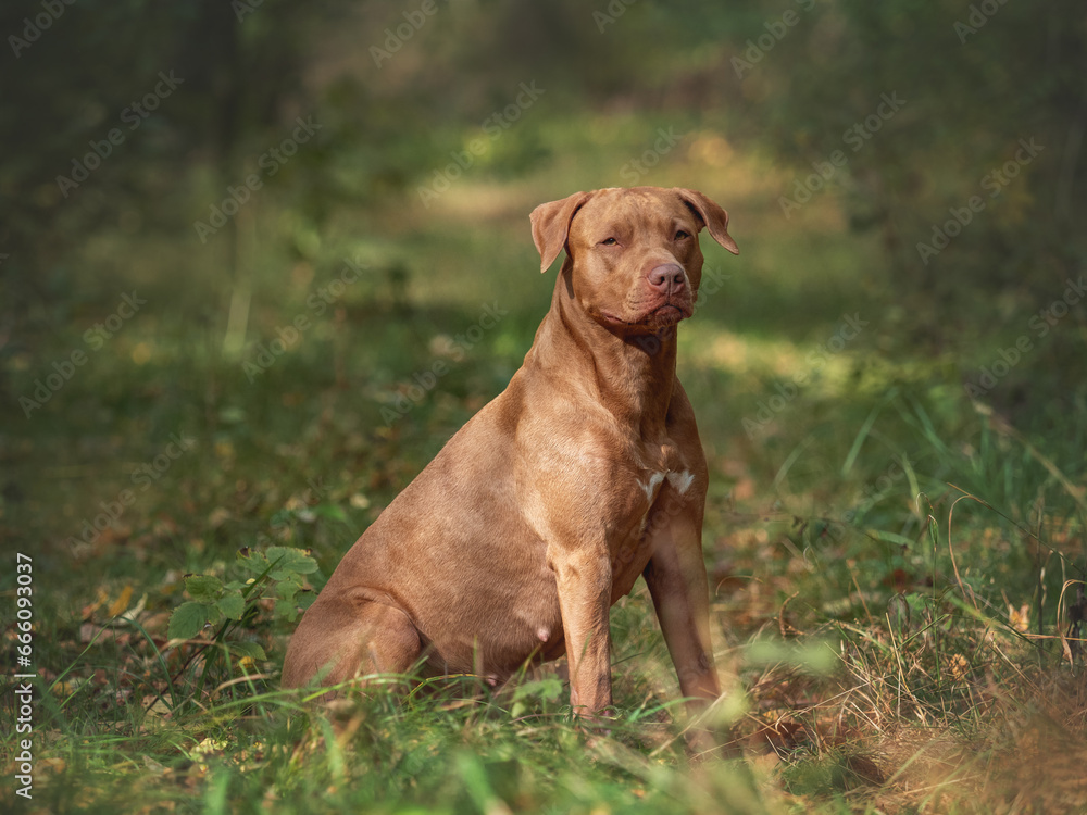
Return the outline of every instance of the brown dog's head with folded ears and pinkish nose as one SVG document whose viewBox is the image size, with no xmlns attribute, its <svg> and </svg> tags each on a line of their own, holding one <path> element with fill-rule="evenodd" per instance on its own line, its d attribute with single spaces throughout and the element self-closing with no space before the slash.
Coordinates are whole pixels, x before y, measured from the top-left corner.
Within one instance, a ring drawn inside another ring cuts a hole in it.
<svg viewBox="0 0 1087 815">
<path fill-rule="evenodd" d="M 702 279 L 705 227 L 739 254 L 728 213 L 691 189 L 630 187 L 575 192 L 532 214 L 540 271 L 562 266 L 586 314 L 621 335 L 658 331 L 689 317 Z"/>
</svg>

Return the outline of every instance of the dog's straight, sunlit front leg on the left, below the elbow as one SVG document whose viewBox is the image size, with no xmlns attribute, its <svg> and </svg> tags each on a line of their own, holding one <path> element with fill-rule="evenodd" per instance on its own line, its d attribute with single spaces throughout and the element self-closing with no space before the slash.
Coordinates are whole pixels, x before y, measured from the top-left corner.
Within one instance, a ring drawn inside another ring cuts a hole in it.
<svg viewBox="0 0 1087 815">
<path fill-rule="evenodd" d="M 570 664 L 570 704 L 591 715 L 611 705 L 611 561 L 605 551 L 552 551 L 551 568 Z"/>
</svg>

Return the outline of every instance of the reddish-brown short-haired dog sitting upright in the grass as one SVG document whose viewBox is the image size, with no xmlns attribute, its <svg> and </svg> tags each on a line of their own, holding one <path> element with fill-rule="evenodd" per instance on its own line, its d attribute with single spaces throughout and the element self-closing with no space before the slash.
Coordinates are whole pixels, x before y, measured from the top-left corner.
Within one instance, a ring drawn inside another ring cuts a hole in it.
<svg viewBox="0 0 1087 815">
<path fill-rule="evenodd" d="M 283 685 L 373 673 L 508 678 L 566 655 L 570 701 L 611 704 L 609 609 L 646 578 L 683 693 L 719 693 L 702 562 L 705 456 L 676 378 L 697 235 L 738 253 L 688 189 L 604 189 L 538 206 L 566 259 L 524 366 L 389 504 L 302 617 Z"/>
</svg>

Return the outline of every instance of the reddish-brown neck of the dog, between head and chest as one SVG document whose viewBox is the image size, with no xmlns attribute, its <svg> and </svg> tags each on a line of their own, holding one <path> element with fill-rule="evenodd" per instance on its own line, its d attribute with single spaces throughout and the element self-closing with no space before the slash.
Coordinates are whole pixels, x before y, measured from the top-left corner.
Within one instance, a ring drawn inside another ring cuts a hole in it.
<svg viewBox="0 0 1087 815">
<path fill-rule="evenodd" d="M 584 312 L 567 274 L 560 273 L 551 310 L 536 333 L 525 366 L 553 373 L 559 377 L 557 387 L 570 381 L 595 386 L 598 401 L 621 425 L 639 438 L 664 436 L 675 387 L 676 326 L 659 334 L 621 336 Z M 572 376 L 574 366 L 586 375 Z"/>
</svg>

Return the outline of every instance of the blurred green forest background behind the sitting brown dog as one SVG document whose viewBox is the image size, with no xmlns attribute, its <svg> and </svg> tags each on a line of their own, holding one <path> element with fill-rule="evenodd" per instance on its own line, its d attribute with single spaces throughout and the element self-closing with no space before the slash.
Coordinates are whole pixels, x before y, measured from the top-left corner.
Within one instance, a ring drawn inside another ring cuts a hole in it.
<svg viewBox="0 0 1087 815">
<path fill-rule="evenodd" d="M 100 654 L 87 625 L 128 614 L 165 653 L 184 576 L 246 546 L 310 549 L 320 588 L 520 365 L 552 288 L 532 209 L 648 184 L 709 195 L 741 250 L 702 240 L 714 286 L 680 377 L 750 729 L 824 766 L 891 719 L 972 711 L 978 738 L 1014 686 L 1017 711 L 1066 702 L 1049 744 L 1087 752 L 1080 690 L 1048 685 L 1079 666 L 1087 612 L 1082 2 L 40 0 L 5 2 L 0 35 L 0 535 L 35 557 L 43 676 L 71 666 L 89 700 L 51 727 L 163 693 L 152 668 L 100 670 L 153 661 L 147 642 Z M 645 603 L 615 625 L 650 625 Z M 270 687 L 280 616 L 247 619 Z M 810 666 L 752 663 L 749 638 L 833 629 L 901 663 L 896 624 L 912 713 L 892 664 L 888 718 L 779 727 L 817 695 Z M 645 649 L 627 692 L 674 697 Z M 796 698 L 766 702 L 767 676 Z M 1013 753 L 1001 738 L 982 752 Z M 780 772 L 815 798 L 871 780 L 834 766 Z M 999 766 L 1028 800 L 1083 800 Z M 391 789 L 373 794 L 434 792 Z"/>
</svg>

